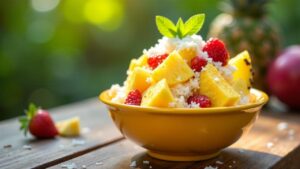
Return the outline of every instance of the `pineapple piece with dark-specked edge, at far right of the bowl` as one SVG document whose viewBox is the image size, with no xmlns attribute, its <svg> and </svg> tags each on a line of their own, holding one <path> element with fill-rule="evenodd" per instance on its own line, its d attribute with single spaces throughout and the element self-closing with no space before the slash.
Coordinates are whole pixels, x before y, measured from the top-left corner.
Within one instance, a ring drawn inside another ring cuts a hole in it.
<svg viewBox="0 0 300 169">
<path fill-rule="evenodd" d="M 232 86 L 241 94 L 249 95 L 252 85 L 252 65 L 251 57 L 247 51 L 239 53 L 229 60 L 229 65 L 237 70 L 233 72 Z"/>
</svg>

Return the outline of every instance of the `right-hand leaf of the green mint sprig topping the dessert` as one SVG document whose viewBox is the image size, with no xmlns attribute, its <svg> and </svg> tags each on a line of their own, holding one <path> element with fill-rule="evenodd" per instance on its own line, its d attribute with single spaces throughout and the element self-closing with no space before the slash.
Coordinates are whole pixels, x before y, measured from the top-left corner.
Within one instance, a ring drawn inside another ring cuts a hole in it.
<svg viewBox="0 0 300 169">
<path fill-rule="evenodd" d="M 205 20 L 205 14 L 197 14 L 190 17 L 184 24 L 184 35 L 193 35 L 200 31 Z"/>
</svg>

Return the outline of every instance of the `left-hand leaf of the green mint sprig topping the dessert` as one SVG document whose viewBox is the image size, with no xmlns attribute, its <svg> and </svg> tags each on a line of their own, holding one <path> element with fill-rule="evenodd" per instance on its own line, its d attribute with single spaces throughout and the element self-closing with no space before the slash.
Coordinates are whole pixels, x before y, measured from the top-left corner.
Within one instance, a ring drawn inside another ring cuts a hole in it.
<svg viewBox="0 0 300 169">
<path fill-rule="evenodd" d="M 176 36 L 176 26 L 170 19 L 163 16 L 156 16 L 156 26 L 163 36 L 169 38 L 174 38 Z"/>
</svg>

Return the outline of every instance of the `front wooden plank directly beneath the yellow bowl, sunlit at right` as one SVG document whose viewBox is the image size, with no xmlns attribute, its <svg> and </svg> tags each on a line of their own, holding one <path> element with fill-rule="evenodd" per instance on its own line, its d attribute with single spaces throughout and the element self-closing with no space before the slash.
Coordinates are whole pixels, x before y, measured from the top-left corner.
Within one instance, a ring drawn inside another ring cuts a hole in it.
<svg viewBox="0 0 300 169">
<path fill-rule="evenodd" d="M 286 124 L 287 128 L 285 128 Z M 278 130 L 278 126 L 284 130 Z M 292 158 L 290 158 L 291 155 Z M 74 163 L 77 168 L 84 165 L 88 169 L 203 169 L 208 166 L 218 167 L 218 169 L 265 169 L 271 167 L 296 169 L 299 168 L 299 162 L 297 162 L 299 159 L 300 114 L 264 114 L 259 117 L 248 135 L 211 160 L 201 162 L 162 161 L 148 156 L 144 149 L 134 143 L 122 140 L 51 168 L 58 169 L 62 165 Z M 137 167 L 130 167 L 133 161 L 136 161 Z M 150 164 L 146 164 L 145 161 L 149 161 Z"/>
</svg>

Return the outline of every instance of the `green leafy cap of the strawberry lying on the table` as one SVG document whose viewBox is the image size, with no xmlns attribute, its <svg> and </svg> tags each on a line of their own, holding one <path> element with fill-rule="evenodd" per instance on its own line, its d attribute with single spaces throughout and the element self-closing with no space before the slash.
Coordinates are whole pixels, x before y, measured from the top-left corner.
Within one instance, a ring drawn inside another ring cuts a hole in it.
<svg viewBox="0 0 300 169">
<path fill-rule="evenodd" d="M 25 116 L 19 118 L 19 122 L 21 123 L 20 130 L 24 131 L 25 136 L 27 135 L 28 132 L 29 123 L 37 113 L 38 109 L 39 108 L 35 104 L 30 103 L 28 110 L 25 110 Z"/>
</svg>

